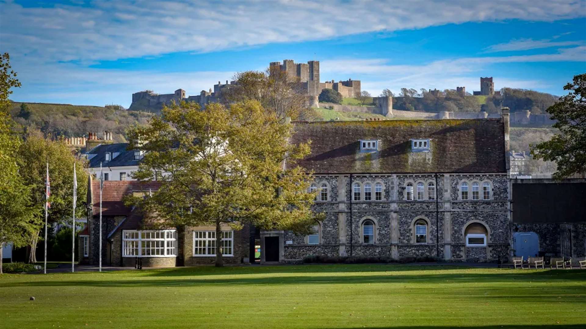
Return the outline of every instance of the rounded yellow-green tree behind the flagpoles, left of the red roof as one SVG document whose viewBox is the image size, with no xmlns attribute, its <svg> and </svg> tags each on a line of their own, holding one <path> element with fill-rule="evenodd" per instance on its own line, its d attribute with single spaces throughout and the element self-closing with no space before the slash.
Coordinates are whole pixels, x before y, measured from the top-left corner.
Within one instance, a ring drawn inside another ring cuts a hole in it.
<svg viewBox="0 0 586 329">
<path fill-rule="evenodd" d="M 83 200 L 87 193 L 86 163 L 77 159 L 72 150 L 59 140 L 45 139 L 30 135 L 19 148 L 22 167 L 19 170 L 26 185 L 32 191 L 30 201 L 40 221 L 45 221 L 45 177 L 46 163 L 49 163 L 51 182 L 50 222 L 64 222 L 73 215 L 73 163 L 76 163 L 77 197 Z M 76 217 L 85 215 L 83 203 L 78 202 Z M 29 262 L 36 262 L 36 246 L 40 231 L 29 236 Z"/>
</svg>

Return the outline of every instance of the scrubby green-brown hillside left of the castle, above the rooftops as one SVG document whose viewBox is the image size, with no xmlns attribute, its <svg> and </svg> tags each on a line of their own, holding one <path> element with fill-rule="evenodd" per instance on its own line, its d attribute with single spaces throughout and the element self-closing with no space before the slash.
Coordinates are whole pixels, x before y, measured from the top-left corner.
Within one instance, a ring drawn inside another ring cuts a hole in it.
<svg viewBox="0 0 586 329">
<path fill-rule="evenodd" d="M 12 102 L 11 115 L 26 129 L 39 130 L 44 135 L 83 136 L 88 132 L 113 132 L 117 142 L 125 141 L 125 129 L 134 124 L 146 124 L 152 114 L 127 111 L 118 105 L 105 107 L 24 103 L 28 111 L 22 112 L 21 102 Z"/>
</svg>

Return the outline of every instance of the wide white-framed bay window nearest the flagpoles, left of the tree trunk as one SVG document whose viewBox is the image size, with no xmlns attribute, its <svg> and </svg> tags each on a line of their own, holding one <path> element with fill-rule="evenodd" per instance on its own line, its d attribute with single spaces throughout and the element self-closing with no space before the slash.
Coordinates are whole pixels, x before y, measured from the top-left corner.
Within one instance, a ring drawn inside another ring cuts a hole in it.
<svg viewBox="0 0 586 329">
<path fill-rule="evenodd" d="M 176 257 L 177 230 L 122 230 L 122 257 Z"/>
</svg>

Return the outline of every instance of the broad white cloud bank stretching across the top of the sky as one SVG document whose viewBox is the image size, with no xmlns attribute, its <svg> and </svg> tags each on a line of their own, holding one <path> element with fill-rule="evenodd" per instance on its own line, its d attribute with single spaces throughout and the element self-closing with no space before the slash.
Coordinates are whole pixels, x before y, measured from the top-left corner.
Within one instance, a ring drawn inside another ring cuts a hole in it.
<svg viewBox="0 0 586 329">
<path fill-rule="evenodd" d="M 0 39 L 45 61 L 115 60 L 321 40 L 447 23 L 584 16 L 584 1 L 94 1 L 93 7 L 0 4 Z M 270 4 L 270 5 L 269 5 Z"/>
</svg>

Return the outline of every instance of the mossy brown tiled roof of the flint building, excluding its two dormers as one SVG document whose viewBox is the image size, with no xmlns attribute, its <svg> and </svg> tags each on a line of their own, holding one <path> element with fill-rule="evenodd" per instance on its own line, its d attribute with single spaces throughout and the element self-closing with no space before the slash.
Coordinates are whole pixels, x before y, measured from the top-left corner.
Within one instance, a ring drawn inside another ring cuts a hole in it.
<svg viewBox="0 0 586 329">
<path fill-rule="evenodd" d="M 315 173 L 504 173 L 502 119 L 294 122 L 292 143 L 311 140 L 297 163 Z M 377 152 L 361 152 L 377 139 Z M 411 139 L 430 139 L 429 152 L 412 152 Z"/>
</svg>

